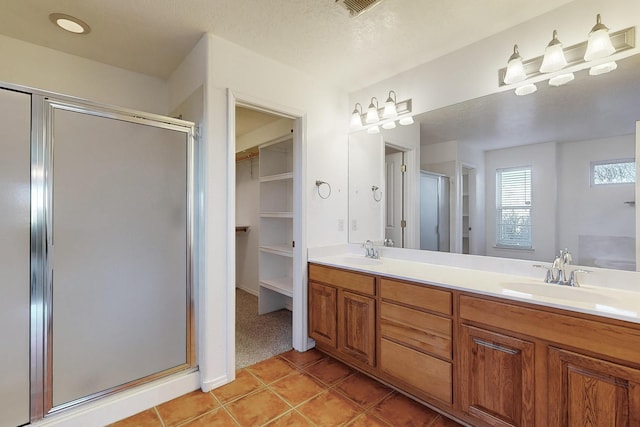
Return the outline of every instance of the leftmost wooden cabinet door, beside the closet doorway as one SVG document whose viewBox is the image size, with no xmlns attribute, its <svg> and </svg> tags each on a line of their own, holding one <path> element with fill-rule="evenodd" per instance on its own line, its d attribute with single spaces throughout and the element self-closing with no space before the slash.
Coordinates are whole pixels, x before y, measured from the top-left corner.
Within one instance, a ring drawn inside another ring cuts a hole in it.
<svg viewBox="0 0 640 427">
<path fill-rule="evenodd" d="M 318 344 L 336 348 L 337 338 L 337 289 L 309 282 L 309 336 Z"/>
</svg>

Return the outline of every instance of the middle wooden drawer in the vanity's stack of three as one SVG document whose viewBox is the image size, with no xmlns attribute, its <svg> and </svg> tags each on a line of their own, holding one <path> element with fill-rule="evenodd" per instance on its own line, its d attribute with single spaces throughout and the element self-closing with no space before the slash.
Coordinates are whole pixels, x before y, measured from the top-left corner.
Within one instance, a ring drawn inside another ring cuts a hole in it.
<svg viewBox="0 0 640 427">
<path fill-rule="evenodd" d="M 451 319 L 382 302 L 383 337 L 451 360 Z"/>
</svg>

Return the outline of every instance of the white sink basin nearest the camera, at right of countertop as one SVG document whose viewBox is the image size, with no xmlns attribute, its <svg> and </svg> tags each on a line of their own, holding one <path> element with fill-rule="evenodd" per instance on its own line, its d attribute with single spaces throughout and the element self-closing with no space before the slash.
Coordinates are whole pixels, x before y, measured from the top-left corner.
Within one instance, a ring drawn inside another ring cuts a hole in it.
<svg viewBox="0 0 640 427">
<path fill-rule="evenodd" d="M 607 304 L 615 301 L 614 298 L 589 288 L 552 285 L 548 283 L 503 283 L 502 288 L 504 295 L 518 298 L 546 297 L 591 304 Z"/>
</svg>

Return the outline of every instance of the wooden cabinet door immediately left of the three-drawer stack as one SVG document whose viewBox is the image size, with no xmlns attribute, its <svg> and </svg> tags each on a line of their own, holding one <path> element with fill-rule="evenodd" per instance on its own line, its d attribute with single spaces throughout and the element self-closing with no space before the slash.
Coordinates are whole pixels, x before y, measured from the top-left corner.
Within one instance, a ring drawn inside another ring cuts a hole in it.
<svg viewBox="0 0 640 427">
<path fill-rule="evenodd" d="M 369 366 L 375 366 L 375 299 L 339 291 L 338 350 Z"/>
</svg>

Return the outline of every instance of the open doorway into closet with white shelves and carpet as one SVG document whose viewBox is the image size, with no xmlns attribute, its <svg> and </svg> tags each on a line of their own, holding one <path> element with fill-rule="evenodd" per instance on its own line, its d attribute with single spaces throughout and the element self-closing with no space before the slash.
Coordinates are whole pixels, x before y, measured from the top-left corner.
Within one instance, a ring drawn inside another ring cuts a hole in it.
<svg viewBox="0 0 640 427">
<path fill-rule="evenodd" d="M 295 119 L 235 106 L 236 369 L 292 348 Z M 298 262 L 299 264 L 299 262 Z"/>
</svg>

